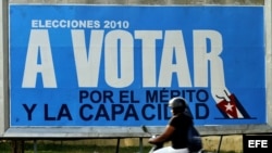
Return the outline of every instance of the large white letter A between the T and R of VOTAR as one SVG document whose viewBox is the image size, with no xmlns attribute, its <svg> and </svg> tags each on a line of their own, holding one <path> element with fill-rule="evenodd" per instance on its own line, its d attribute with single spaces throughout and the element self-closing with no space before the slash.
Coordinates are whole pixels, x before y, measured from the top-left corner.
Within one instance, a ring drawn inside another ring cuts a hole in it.
<svg viewBox="0 0 272 153">
<path fill-rule="evenodd" d="M 182 30 L 166 30 L 161 55 L 159 87 L 171 87 L 176 74 L 178 87 L 191 87 Z"/>
</svg>

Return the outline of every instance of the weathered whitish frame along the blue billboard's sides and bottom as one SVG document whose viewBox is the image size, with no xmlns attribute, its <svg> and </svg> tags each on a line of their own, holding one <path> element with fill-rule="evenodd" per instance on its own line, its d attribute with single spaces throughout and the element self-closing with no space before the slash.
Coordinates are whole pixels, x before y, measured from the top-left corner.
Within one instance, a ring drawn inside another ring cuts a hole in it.
<svg viewBox="0 0 272 153">
<path fill-rule="evenodd" d="M 149 137 L 141 127 L 10 127 L 9 105 L 9 2 L 0 2 L 0 138 L 129 138 Z M 264 0 L 267 124 L 207 125 L 197 127 L 202 136 L 272 132 L 272 2 Z M 158 133 L 164 127 L 148 127 Z"/>
</svg>

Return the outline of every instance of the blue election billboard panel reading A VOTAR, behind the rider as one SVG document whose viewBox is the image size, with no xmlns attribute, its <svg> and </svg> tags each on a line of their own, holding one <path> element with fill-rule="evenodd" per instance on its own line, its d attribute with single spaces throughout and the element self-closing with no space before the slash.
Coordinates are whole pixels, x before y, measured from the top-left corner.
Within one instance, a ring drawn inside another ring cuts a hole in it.
<svg viewBox="0 0 272 153">
<path fill-rule="evenodd" d="M 10 122 L 265 124 L 262 7 L 10 5 Z"/>
</svg>

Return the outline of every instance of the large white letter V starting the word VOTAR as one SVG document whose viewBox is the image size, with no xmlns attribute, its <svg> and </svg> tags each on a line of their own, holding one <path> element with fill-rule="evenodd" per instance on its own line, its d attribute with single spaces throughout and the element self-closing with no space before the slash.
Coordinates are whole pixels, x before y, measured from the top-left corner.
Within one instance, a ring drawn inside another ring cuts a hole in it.
<svg viewBox="0 0 272 153">
<path fill-rule="evenodd" d="M 97 87 L 102 52 L 103 30 L 91 30 L 89 49 L 82 29 L 72 30 L 77 81 L 79 87 Z"/>
</svg>

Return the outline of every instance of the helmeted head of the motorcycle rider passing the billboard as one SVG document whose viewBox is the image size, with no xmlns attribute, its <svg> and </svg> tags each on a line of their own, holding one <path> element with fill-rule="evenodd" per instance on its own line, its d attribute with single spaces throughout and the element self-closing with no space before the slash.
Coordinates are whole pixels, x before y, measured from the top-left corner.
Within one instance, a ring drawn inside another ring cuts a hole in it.
<svg viewBox="0 0 272 153">
<path fill-rule="evenodd" d="M 183 99 L 181 97 L 172 98 L 169 101 L 169 106 L 172 109 L 172 113 L 174 115 L 176 115 L 178 113 L 183 113 L 185 111 L 186 105 L 187 104 L 186 104 L 185 99 Z"/>
</svg>

